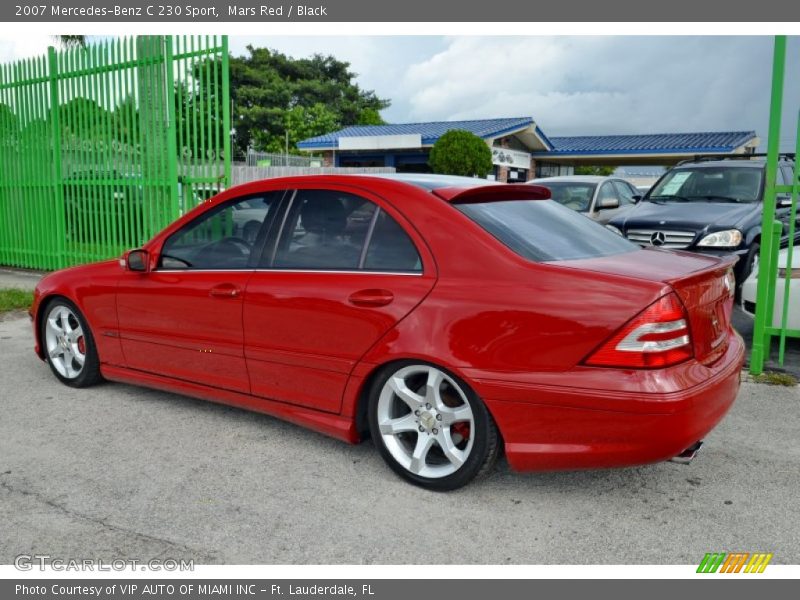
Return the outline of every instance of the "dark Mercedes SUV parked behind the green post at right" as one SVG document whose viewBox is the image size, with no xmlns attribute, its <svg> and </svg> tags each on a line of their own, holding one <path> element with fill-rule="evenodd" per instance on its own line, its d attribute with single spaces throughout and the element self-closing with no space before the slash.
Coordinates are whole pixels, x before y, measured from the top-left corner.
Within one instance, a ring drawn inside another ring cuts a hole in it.
<svg viewBox="0 0 800 600">
<path fill-rule="evenodd" d="M 607 227 L 642 246 L 736 254 L 738 287 L 758 256 L 765 169 L 765 159 L 752 155 L 680 163 Z M 794 155 L 782 155 L 778 185 L 791 185 L 793 173 Z M 779 194 L 775 218 L 783 221 L 781 246 L 788 242 L 790 207 L 791 197 Z M 800 238 L 800 215 L 798 225 L 796 239 Z"/>
</svg>

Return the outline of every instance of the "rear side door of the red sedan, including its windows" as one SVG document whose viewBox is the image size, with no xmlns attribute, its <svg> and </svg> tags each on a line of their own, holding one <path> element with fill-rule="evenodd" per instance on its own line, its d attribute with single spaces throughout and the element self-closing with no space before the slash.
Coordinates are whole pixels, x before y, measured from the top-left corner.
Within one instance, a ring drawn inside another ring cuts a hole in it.
<svg viewBox="0 0 800 600">
<path fill-rule="evenodd" d="M 252 393 L 338 412 L 357 361 L 431 290 L 433 260 L 384 200 L 346 187 L 297 189 L 247 285 Z"/>
</svg>

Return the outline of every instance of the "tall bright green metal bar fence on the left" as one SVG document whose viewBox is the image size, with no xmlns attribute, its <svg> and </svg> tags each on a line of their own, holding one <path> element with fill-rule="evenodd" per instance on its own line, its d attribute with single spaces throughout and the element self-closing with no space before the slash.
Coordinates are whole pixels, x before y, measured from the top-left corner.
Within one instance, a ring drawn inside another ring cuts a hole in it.
<svg viewBox="0 0 800 600">
<path fill-rule="evenodd" d="M 139 36 L 0 66 L 0 264 L 119 255 L 230 182 L 225 36 Z"/>
</svg>

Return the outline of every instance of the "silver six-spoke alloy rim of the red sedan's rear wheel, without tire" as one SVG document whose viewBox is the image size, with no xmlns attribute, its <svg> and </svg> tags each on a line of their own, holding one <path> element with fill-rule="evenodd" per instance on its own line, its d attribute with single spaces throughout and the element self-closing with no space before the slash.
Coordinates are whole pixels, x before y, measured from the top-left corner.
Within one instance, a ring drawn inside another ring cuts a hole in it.
<svg viewBox="0 0 800 600">
<path fill-rule="evenodd" d="M 389 377 L 377 416 L 386 449 L 415 475 L 452 475 L 472 451 L 475 419 L 467 396 L 431 365 L 410 365 Z"/>
</svg>

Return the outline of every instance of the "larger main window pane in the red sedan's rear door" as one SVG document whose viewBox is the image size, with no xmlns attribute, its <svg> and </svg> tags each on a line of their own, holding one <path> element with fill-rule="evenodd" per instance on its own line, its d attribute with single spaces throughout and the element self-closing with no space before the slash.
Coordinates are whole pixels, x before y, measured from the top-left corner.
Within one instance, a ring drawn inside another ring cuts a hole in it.
<svg viewBox="0 0 800 600">
<path fill-rule="evenodd" d="M 377 207 L 334 190 L 298 190 L 286 216 L 272 266 L 276 269 L 355 270 Z"/>
</svg>

